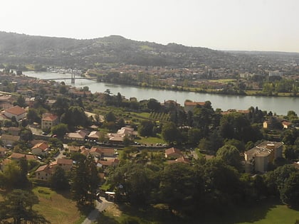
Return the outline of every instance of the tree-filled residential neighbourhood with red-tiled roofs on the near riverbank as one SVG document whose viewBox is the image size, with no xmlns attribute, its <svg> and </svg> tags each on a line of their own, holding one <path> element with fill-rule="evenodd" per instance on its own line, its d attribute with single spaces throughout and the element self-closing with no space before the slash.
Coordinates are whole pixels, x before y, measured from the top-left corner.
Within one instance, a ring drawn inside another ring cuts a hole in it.
<svg viewBox="0 0 299 224">
<path fill-rule="evenodd" d="M 266 198 L 297 206 L 293 110 L 137 100 L 14 70 L 0 75 L 3 191 L 33 189 L 52 206 L 52 196 L 68 195 L 80 213 L 104 200 L 134 209 L 162 205 L 157 213 L 174 219 Z"/>
</svg>

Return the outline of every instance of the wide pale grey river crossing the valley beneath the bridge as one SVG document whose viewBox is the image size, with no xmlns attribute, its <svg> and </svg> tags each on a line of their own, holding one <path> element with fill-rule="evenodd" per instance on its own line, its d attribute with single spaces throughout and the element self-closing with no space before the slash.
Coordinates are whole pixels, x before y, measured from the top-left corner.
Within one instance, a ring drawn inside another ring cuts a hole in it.
<svg viewBox="0 0 299 224">
<path fill-rule="evenodd" d="M 70 74 L 60 73 L 35 73 L 23 72 L 24 75 L 40 78 L 40 79 L 58 79 L 70 78 Z M 120 92 L 126 98 L 136 97 L 137 100 L 148 100 L 154 98 L 159 102 L 164 100 L 176 100 L 179 104 L 184 106 L 185 100 L 192 101 L 211 101 L 214 109 L 221 108 L 221 110 L 247 110 L 249 107 L 258 107 L 261 110 L 271 111 L 276 114 L 287 114 L 289 110 L 299 113 L 299 97 L 262 97 L 262 96 L 237 96 L 237 95 L 216 95 L 210 93 L 199 92 L 180 92 L 173 90 L 156 90 L 142 87 L 135 87 L 129 85 L 117 85 L 106 82 L 95 82 L 93 80 L 78 79 L 75 84 L 70 83 L 70 79 L 57 80 L 58 82 L 65 82 L 65 85 L 73 85 L 75 87 L 88 86 L 91 92 L 104 92 L 109 89 L 113 95 Z"/>
</svg>

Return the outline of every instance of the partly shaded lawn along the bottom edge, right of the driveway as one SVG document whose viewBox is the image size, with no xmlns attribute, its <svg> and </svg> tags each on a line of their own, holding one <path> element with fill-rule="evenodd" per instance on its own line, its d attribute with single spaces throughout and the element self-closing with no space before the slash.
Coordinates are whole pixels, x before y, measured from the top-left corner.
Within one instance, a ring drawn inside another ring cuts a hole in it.
<svg viewBox="0 0 299 224">
<path fill-rule="evenodd" d="M 202 218 L 199 210 L 196 220 L 175 218 L 167 210 L 152 208 L 150 210 L 134 209 L 126 205 L 113 205 L 101 213 L 99 224 L 140 223 L 140 224 L 294 224 L 299 219 L 299 211 L 281 205 L 278 201 L 257 203 L 252 208 L 236 208 L 225 215 L 211 213 Z"/>
</svg>

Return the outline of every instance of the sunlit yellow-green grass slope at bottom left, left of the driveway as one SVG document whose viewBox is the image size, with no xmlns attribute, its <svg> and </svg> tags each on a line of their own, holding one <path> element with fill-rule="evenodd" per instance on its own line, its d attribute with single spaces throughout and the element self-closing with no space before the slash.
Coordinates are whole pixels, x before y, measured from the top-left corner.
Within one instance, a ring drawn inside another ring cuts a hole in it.
<svg viewBox="0 0 299 224">
<path fill-rule="evenodd" d="M 51 223 L 82 223 L 85 219 L 85 216 L 80 216 L 75 201 L 70 199 L 69 193 L 56 193 L 46 187 L 36 187 L 33 192 L 39 200 L 33 209 L 41 213 Z"/>
</svg>

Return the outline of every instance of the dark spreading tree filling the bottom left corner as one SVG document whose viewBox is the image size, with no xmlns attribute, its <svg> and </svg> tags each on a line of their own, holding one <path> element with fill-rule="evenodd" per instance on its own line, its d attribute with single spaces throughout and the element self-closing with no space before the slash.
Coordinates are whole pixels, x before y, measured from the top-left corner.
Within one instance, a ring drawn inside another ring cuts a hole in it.
<svg viewBox="0 0 299 224">
<path fill-rule="evenodd" d="M 33 205 L 38 203 L 38 197 L 29 191 L 14 190 L 4 196 L 0 202 L 0 220 L 14 219 L 15 224 L 23 221 L 30 223 L 50 223 L 43 215 L 33 210 Z"/>
</svg>

